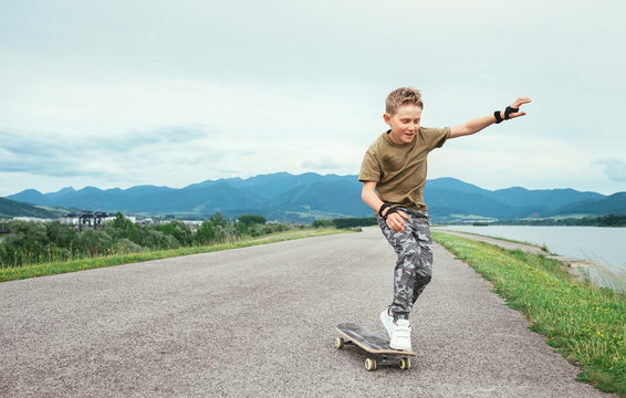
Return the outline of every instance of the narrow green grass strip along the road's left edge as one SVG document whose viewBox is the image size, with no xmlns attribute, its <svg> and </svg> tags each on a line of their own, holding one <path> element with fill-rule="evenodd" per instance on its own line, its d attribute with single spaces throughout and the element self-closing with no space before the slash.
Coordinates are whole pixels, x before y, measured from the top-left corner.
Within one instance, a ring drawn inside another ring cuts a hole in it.
<svg viewBox="0 0 626 398">
<path fill-rule="evenodd" d="M 240 241 L 228 243 L 211 244 L 205 247 L 189 247 L 171 250 L 158 250 L 140 253 L 114 254 L 98 258 L 85 258 L 81 260 L 71 260 L 62 262 L 46 262 L 35 265 L 24 265 L 14 268 L 0 268 L 0 282 L 23 280 L 35 276 L 54 275 L 67 272 L 76 272 L 84 270 L 94 270 L 98 268 L 132 264 L 143 261 L 160 260 L 174 256 L 208 253 L 220 250 L 248 248 L 259 244 L 277 243 L 294 239 L 320 237 L 335 233 L 344 233 L 348 230 L 340 230 L 334 228 L 292 230 L 279 232 L 261 238 L 249 238 Z"/>
</svg>

